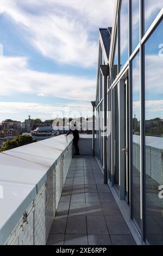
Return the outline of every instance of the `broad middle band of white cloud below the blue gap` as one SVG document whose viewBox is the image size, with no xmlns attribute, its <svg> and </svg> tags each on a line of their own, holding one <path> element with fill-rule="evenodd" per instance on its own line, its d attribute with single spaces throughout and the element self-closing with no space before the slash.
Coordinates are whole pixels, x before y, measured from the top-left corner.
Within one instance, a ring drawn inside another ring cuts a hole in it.
<svg viewBox="0 0 163 256">
<path fill-rule="evenodd" d="M 0 81 L 0 96 L 30 93 L 91 101 L 96 93 L 96 79 L 33 71 L 28 68 L 27 59 L 20 57 L 0 58 Z"/>
</svg>

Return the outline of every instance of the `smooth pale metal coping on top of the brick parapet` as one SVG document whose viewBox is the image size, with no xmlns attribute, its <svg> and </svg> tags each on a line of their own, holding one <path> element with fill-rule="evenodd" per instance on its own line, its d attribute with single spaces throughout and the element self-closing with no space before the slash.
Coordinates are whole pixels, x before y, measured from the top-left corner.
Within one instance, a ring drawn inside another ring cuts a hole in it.
<svg viewBox="0 0 163 256">
<path fill-rule="evenodd" d="M 61 141 L 65 142 L 62 152 L 64 154 L 72 138 L 67 140 L 61 137 Z M 0 154 L 0 208 L 3 209 L 0 216 L 0 244 L 5 242 L 24 210 L 53 172 L 57 162 L 61 161 L 62 154 L 55 148 L 38 143 L 20 148 Z"/>
</svg>

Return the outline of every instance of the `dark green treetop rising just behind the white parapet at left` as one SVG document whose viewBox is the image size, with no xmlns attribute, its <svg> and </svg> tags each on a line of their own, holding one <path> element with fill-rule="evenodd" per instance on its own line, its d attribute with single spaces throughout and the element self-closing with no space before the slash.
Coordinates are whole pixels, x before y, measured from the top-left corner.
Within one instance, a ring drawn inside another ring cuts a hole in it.
<svg viewBox="0 0 163 256">
<path fill-rule="evenodd" d="M 33 139 L 29 135 L 18 135 L 14 139 L 8 139 L 0 149 L 0 152 L 3 152 L 5 150 L 14 149 L 17 147 L 21 147 L 23 145 L 27 145 L 30 143 L 36 142 L 36 139 Z"/>
</svg>

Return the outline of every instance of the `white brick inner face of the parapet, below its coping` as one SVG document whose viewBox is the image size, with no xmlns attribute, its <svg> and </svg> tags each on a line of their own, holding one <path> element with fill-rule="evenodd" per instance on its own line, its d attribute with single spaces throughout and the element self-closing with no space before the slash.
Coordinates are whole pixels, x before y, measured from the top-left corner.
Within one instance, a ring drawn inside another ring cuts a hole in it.
<svg viewBox="0 0 163 256">
<path fill-rule="evenodd" d="M 72 159 L 72 144 L 61 156 L 46 183 L 26 209 L 5 245 L 46 245 Z"/>
</svg>

